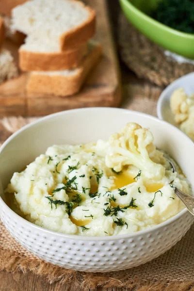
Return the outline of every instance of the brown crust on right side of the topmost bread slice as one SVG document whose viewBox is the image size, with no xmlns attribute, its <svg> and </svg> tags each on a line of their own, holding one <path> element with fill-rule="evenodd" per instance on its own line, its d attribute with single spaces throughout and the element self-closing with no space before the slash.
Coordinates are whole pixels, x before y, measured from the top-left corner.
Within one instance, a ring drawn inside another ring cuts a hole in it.
<svg viewBox="0 0 194 291">
<path fill-rule="evenodd" d="M 77 0 L 72 0 L 77 1 Z M 80 1 L 77 1 L 80 2 Z M 96 32 L 96 13 L 89 7 L 81 3 L 86 9 L 90 16 L 78 27 L 64 32 L 60 36 L 60 48 L 61 50 L 74 49 L 77 46 L 80 46 L 82 43 L 86 42 L 91 38 Z"/>
</svg>

